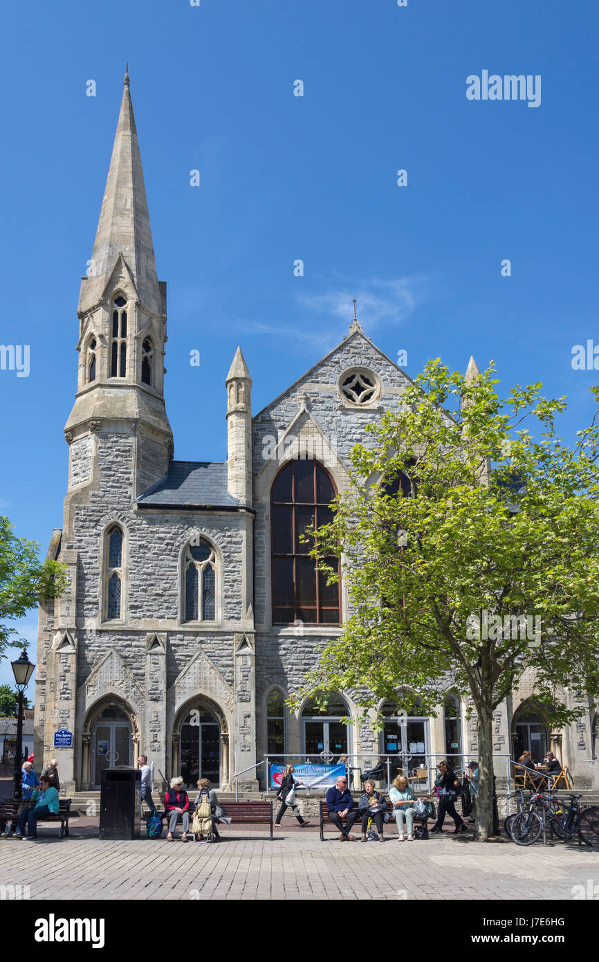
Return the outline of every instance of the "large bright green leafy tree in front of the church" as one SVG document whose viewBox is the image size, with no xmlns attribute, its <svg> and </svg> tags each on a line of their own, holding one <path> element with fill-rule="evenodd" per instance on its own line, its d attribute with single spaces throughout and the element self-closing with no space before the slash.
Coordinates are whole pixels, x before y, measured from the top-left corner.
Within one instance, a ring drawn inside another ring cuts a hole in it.
<svg viewBox="0 0 599 962">
<path fill-rule="evenodd" d="M 364 712 L 386 697 L 410 712 L 417 696 L 436 714 L 450 688 L 470 696 L 480 841 L 492 831 L 493 710 L 527 670 L 556 724 L 599 689 L 597 426 L 568 448 L 554 423 L 564 399 L 534 384 L 501 400 L 493 371 L 431 362 L 353 448 L 349 487 L 312 546 L 329 583 L 325 559 L 341 557 L 351 617 L 292 699 L 348 690 Z"/>
</svg>

